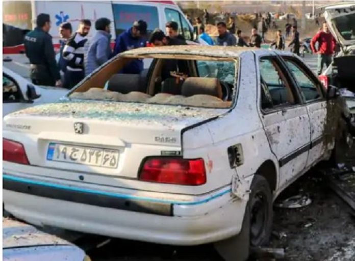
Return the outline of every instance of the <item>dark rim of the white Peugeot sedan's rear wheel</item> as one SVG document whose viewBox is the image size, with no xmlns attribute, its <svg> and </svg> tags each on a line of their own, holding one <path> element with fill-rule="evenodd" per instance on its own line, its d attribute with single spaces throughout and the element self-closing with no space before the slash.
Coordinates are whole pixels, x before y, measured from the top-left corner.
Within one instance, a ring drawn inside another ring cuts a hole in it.
<svg viewBox="0 0 355 261">
<path fill-rule="evenodd" d="M 258 246 L 262 240 L 267 222 L 266 196 L 259 192 L 252 198 L 250 213 L 250 243 Z"/>
</svg>

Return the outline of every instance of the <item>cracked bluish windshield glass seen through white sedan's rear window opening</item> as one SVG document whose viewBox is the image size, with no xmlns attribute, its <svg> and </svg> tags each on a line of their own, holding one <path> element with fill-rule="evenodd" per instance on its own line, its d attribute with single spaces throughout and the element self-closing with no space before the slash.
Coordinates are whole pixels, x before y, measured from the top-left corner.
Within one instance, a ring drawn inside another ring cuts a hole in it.
<svg viewBox="0 0 355 261">
<path fill-rule="evenodd" d="M 216 61 L 197 61 L 196 63 L 199 77 L 218 78 L 221 81 L 234 84 L 234 63 Z"/>
</svg>

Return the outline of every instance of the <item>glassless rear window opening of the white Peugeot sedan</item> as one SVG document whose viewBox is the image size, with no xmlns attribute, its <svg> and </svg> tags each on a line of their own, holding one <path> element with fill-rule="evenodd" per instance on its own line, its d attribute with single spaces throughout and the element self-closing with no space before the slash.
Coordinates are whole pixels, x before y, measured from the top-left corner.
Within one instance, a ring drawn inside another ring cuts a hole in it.
<svg viewBox="0 0 355 261">
<path fill-rule="evenodd" d="M 151 59 L 118 57 L 70 94 L 71 99 L 229 108 L 235 96 L 236 60 L 154 59 L 140 74 L 121 73 Z"/>
</svg>

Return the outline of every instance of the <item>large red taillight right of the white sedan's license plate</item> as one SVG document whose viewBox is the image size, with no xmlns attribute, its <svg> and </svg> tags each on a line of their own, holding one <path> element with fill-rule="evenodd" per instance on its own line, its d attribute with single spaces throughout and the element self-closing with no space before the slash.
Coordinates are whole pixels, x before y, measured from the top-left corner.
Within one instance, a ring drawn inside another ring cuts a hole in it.
<svg viewBox="0 0 355 261">
<path fill-rule="evenodd" d="M 139 179 L 158 183 L 179 185 L 202 185 L 206 183 L 203 159 L 148 158 Z"/>
</svg>

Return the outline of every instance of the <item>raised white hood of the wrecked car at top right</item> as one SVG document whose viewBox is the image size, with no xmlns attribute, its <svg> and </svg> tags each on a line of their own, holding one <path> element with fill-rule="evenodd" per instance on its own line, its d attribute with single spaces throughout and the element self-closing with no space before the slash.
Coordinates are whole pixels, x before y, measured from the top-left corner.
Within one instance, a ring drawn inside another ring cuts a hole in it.
<svg viewBox="0 0 355 261">
<path fill-rule="evenodd" d="M 346 47 L 355 45 L 355 35 L 353 39 L 345 39 L 336 25 L 335 19 L 339 17 L 345 17 L 347 15 L 355 15 L 355 3 L 344 3 L 339 5 L 332 5 L 325 7 L 324 18 L 329 26 L 329 30 L 333 36 L 337 39 L 340 45 Z M 349 31 L 351 28 L 349 28 Z M 355 31 L 355 25 L 353 30 Z M 355 34 L 355 33 L 354 33 Z"/>
</svg>

